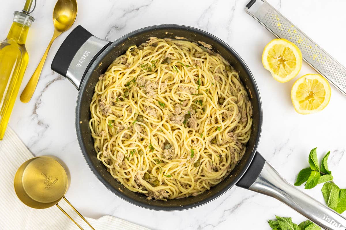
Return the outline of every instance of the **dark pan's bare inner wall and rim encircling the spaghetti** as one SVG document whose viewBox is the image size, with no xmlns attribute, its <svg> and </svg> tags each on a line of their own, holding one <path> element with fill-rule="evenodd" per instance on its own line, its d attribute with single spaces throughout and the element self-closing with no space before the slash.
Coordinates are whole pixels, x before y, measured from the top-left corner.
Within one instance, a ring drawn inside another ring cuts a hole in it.
<svg viewBox="0 0 346 230">
<path fill-rule="evenodd" d="M 239 73 L 245 88 L 247 89 L 249 99 L 253 107 L 253 124 L 251 131 L 251 138 L 247 143 L 247 150 L 243 159 L 231 172 L 230 176 L 198 196 L 188 197 L 183 199 L 173 199 L 167 201 L 148 200 L 143 194 L 131 192 L 122 186 L 116 179 L 114 179 L 106 167 L 100 162 L 94 150 L 94 142 L 89 129 L 90 111 L 89 105 L 94 93 L 94 87 L 99 80 L 100 74 L 107 70 L 107 67 L 119 55 L 126 52 L 128 47 L 136 44 L 137 46 L 149 40 L 150 37 L 157 38 L 172 38 L 183 37 L 191 42 L 203 41 L 212 46 L 212 50 L 221 54 Z M 151 26 L 143 29 L 136 30 L 121 37 L 107 47 L 90 66 L 89 71 L 86 73 L 83 82 L 80 86 L 78 101 L 76 106 L 76 131 L 78 141 L 81 146 L 84 158 L 89 164 L 89 167 L 95 176 L 113 193 L 125 199 L 126 201 L 136 204 L 137 206 L 163 211 L 184 210 L 200 206 L 207 203 L 222 193 L 231 188 L 244 174 L 254 156 L 257 143 L 260 138 L 262 127 L 262 108 L 260 96 L 254 78 L 246 66 L 245 62 L 238 56 L 238 54 L 230 48 L 226 43 L 220 39 L 212 36 L 211 34 L 198 30 L 192 27 L 179 26 L 179 25 L 159 25 Z"/>
</svg>

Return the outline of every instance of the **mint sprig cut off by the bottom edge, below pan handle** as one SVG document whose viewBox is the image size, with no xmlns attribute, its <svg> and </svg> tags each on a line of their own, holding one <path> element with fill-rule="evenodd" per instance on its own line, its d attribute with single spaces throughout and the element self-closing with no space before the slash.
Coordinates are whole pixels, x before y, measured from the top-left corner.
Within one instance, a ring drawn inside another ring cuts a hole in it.
<svg viewBox="0 0 346 230">
<path fill-rule="evenodd" d="M 268 224 L 273 230 L 321 230 L 310 220 L 303 221 L 298 225 L 292 222 L 291 217 L 275 217 L 276 220 L 268 220 Z"/>
</svg>

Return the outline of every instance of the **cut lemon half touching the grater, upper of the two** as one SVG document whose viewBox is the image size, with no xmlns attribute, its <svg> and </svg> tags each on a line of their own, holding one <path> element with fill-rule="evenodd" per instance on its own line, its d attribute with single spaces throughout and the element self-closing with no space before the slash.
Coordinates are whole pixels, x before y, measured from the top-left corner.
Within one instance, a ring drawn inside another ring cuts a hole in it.
<svg viewBox="0 0 346 230">
<path fill-rule="evenodd" d="M 263 50 L 262 63 L 276 81 L 288 82 L 302 67 L 302 53 L 286 39 L 274 39 Z"/>
</svg>

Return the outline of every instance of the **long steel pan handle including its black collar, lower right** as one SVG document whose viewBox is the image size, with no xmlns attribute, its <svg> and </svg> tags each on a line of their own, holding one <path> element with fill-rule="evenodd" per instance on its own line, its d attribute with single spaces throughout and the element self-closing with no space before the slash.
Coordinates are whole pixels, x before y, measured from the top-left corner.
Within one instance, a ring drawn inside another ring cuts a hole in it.
<svg viewBox="0 0 346 230">
<path fill-rule="evenodd" d="M 327 230 L 345 230 L 346 219 L 285 181 L 256 152 L 237 186 L 274 197 Z"/>
</svg>

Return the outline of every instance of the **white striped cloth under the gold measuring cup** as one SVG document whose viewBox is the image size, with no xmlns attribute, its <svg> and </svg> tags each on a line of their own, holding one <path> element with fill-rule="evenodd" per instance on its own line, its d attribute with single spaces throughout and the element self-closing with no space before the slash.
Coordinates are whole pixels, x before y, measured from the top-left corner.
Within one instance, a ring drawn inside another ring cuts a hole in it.
<svg viewBox="0 0 346 230">
<path fill-rule="evenodd" d="M 66 230 L 79 229 L 57 207 L 33 209 L 23 204 L 16 196 L 13 179 L 16 171 L 26 160 L 34 157 L 10 127 L 0 141 L 0 229 L 1 230 Z M 66 202 L 59 205 L 85 230 L 90 227 L 76 214 Z M 96 230 L 149 230 L 112 216 L 97 220 L 86 218 Z"/>
</svg>

